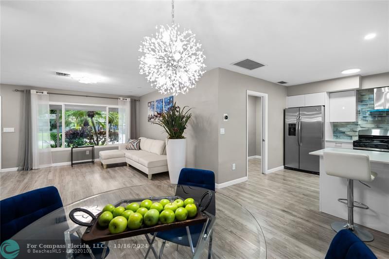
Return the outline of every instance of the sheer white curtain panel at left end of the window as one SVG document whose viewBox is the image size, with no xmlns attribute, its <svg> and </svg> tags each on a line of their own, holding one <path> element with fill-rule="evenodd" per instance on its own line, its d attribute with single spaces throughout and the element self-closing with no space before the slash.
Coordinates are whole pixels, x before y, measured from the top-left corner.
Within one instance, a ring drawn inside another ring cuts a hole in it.
<svg viewBox="0 0 389 259">
<path fill-rule="evenodd" d="M 33 169 L 52 166 L 49 95 L 46 91 L 31 90 L 31 131 Z"/>
</svg>

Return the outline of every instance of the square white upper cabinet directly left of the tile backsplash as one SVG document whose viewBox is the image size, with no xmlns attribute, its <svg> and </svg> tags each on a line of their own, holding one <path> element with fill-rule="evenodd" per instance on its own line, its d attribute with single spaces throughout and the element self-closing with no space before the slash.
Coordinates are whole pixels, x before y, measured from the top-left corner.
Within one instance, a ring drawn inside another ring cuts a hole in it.
<svg viewBox="0 0 389 259">
<path fill-rule="evenodd" d="M 356 121 L 355 90 L 330 93 L 330 122 Z"/>
</svg>

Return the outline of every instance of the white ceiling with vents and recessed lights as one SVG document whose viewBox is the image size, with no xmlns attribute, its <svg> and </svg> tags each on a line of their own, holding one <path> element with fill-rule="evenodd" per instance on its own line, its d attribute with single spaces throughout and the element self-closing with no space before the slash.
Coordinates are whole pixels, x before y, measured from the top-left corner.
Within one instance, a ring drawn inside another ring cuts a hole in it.
<svg viewBox="0 0 389 259">
<path fill-rule="evenodd" d="M 1 83 L 141 96 L 142 37 L 169 24 L 170 1 L 1 1 Z M 288 86 L 389 71 L 389 1 L 179 1 L 176 22 L 217 67 Z M 364 36 L 376 33 L 367 41 Z M 267 66 L 230 65 L 250 58 Z M 99 75 L 97 84 L 53 71 Z M 130 92 L 131 91 L 131 92 Z"/>
</svg>

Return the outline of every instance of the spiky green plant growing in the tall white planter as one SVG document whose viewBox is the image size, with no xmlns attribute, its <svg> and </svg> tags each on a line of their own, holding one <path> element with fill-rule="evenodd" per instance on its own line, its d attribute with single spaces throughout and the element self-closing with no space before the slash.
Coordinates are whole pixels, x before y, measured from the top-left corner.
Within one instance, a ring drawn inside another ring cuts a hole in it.
<svg viewBox="0 0 389 259">
<path fill-rule="evenodd" d="M 181 139 L 186 129 L 186 124 L 192 117 L 189 111 L 192 108 L 184 106 L 182 109 L 174 103 L 171 109 L 165 113 L 159 113 L 154 116 L 153 124 L 161 126 L 169 135 L 169 139 Z"/>
</svg>

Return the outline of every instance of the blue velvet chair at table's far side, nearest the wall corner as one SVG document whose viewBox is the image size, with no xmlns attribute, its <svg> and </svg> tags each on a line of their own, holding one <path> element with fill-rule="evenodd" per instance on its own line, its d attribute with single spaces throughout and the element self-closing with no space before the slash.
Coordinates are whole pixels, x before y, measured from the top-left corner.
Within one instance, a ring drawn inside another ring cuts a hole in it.
<svg viewBox="0 0 389 259">
<path fill-rule="evenodd" d="M 215 174 L 209 170 L 183 168 L 178 177 L 178 185 L 194 186 L 214 191 Z M 211 213 L 215 213 L 214 208 L 211 209 Z M 196 247 L 197 245 L 202 228 L 203 224 L 189 226 L 193 247 Z M 188 233 L 185 227 L 158 232 L 157 237 L 163 240 L 159 253 L 160 256 L 162 256 L 166 241 L 176 243 L 177 249 L 178 245 L 190 246 Z M 209 255 L 211 254 L 211 251 L 212 235 L 210 235 Z"/>
</svg>

